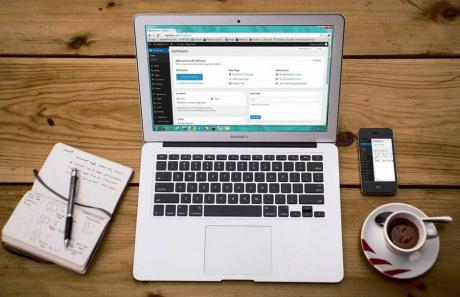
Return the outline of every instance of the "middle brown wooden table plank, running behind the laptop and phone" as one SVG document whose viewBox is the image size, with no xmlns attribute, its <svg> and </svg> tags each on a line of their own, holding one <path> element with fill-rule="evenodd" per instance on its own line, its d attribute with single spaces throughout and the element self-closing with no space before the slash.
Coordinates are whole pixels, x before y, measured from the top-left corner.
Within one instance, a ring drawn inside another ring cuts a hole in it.
<svg viewBox="0 0 460 297">
<path fill-rule="evenodd" d="M 358 185 L 355 135 L 391 127 L 403 185 L 460 185 L 460 60 L 349 59 L 340 178 Z M 0 59 L 0 181 L 31 182 L 64 142 L 135 169 L 142 135 L 134 59 Z"/>
</svg>

